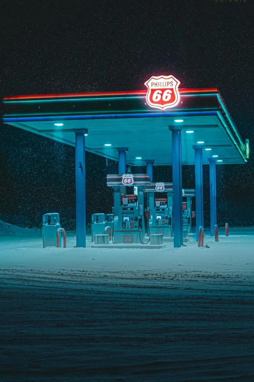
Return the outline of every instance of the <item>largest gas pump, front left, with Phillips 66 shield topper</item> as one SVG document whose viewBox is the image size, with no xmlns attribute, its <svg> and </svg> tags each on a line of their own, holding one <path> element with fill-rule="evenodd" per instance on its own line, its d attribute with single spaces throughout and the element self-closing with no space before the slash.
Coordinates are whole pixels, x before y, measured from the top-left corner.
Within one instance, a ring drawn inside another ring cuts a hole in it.
<svg viewBox="0 0 254 382">
<path fill-rule="evenodd" d="M 147 243 L 145 239 L 144 186 L 149 184 L 147 174 L 108 175 L 107 185 L 114 187 L 114 221 L 112 241 L 114 244 Z M 127 182 L 127 180 L 130 180 Z M 127 186 L 126 186 L 127 184 Z M 134 194 L 127 191 L 137 187 Z"/>
</svg>

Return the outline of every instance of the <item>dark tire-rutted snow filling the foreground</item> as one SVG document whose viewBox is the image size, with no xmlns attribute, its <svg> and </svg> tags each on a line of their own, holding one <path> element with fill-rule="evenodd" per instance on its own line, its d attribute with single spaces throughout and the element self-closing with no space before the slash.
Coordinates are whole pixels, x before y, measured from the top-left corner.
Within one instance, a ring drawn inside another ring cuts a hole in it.
<svg viewBox="0 0 254 382">
<path fill-rule="evenodd" d="M 1 381 L 253 381 L 251 273 L 0 270 Z"/>
</svg>

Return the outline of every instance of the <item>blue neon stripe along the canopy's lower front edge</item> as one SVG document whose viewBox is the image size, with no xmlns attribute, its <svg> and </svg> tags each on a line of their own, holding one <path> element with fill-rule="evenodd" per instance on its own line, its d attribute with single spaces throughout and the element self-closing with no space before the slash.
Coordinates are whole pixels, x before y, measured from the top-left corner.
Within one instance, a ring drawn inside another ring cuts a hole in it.
<svg viewBox="0 0 254 382">
<path fill-rule="evenodd" d="M 179 116 L 216 116 L 217 111 L 191 111 L 176 113 L 137 113 L 137 114 L 100 114 L 89 116 L 54 116 L 54 117 L 21 117 L 3 118 L 4 122 L 29 122 L 29 121 L 70 121 L 70 120 L 114 120 L 126 118 L 154 118 L 154 117 L 179 117 Z"/>
</svg>

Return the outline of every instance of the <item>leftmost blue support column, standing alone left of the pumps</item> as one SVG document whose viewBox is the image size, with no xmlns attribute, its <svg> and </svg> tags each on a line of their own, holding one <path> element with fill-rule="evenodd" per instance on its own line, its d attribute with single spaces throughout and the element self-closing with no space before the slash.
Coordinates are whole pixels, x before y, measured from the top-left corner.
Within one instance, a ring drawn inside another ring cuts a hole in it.
<svg viewBox="0 0 254 382">
<path fill-rule="evenodd" d="M 87 133 L 87 129 L 75 130 L 76 246 L 84 248 L 86 247 L 85 133 Z"/>
</svg>

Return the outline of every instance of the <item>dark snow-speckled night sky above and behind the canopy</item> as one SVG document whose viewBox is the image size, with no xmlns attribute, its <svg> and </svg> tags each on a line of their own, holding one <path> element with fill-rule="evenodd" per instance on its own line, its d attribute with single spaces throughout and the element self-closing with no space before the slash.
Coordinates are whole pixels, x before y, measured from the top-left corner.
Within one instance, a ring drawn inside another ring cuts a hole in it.
<svg viewBox="0 0 254 382">
<path fill-rule="evenodd" d="M 217 167 L 218 224 L 253 225 L 253 14 L 252 0 L 4 1 L 0 95 L 139 90 L 162 74 L 184 88 L 218 87 L 251 150 L 248 164 Z M 86 160 L 90 221 L 111 212 L 106 175 L 118 163 L 107 167 L 88 152 Z M 44 213 L 59 211 L 74 227 L 73 147 L 1 122 L 0 165 L 1 220 L 39 226 Z M 154 181 L 172 181 L 171 173 L 155 167 Z M 208 165 L 203 175 L 208 225 Z M 195 187 L 194 166 L 183 166 L 183 187 Z"/>
</svg>

